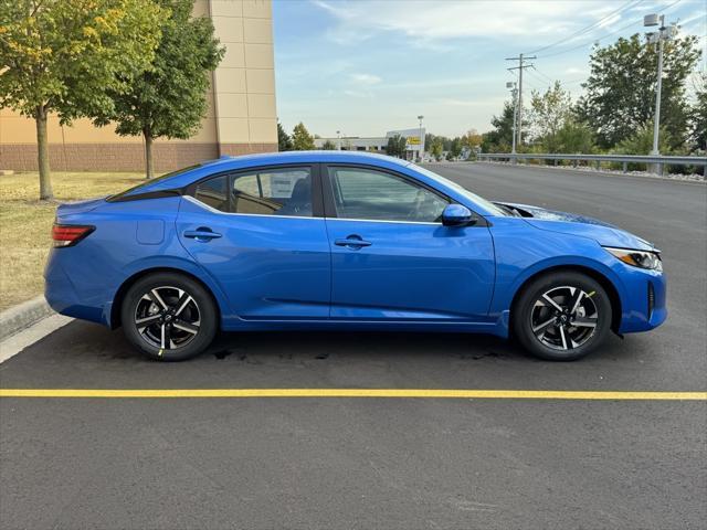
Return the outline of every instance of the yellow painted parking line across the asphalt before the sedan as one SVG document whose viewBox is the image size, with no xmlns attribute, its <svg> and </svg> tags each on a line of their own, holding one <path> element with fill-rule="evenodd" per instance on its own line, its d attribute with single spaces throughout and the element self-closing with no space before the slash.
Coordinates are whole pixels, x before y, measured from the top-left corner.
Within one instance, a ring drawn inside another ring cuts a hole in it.
<svg viewBox="0 0 707 530">
<path fill-rule="evenodd" d="M 444 389 L 0 389 L 0 398 L 431 398 L 482 400 L 707 401 L 707 392 Z"/>
</svg>

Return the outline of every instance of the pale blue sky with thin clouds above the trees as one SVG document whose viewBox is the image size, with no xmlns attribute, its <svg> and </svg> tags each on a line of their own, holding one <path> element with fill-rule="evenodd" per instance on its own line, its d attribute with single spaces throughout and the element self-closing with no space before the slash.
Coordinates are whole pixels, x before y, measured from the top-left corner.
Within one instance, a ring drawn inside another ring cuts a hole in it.
<svg viewBox="0 0 707 530">
<path fill-rule="evenodd" d="M 273 0 L 277 115 L 323 137 L 382 136 L 419 115 L 429 132 L 483 132 L 517 81 L 505 57 L 538 56 L 526 102 L 552 80 L 578 97 L 594 42 L 646 31 L 653 12 L 701 38 L 705 71 L 707 0 Z"/>
</svg>

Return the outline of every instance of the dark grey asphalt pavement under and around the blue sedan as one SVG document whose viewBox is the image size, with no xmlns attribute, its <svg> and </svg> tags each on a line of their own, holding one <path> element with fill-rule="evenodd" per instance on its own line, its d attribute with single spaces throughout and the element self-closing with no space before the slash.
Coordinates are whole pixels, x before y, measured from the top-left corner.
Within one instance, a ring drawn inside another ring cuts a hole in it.
<svg viewBox="0 0 707 530">
<path fill-rule="evenodd" d="M 432 169 L 655 242 L 668 321 L 574 363 L 484 336 L 251 333 L 172 364 L 72 322 L 0 364 L 0 386 L 705 391 L 707 186 Z M 697 529 L 705 499 L 701 400 L 0 399 L 8 529 Z"/>
</svg>

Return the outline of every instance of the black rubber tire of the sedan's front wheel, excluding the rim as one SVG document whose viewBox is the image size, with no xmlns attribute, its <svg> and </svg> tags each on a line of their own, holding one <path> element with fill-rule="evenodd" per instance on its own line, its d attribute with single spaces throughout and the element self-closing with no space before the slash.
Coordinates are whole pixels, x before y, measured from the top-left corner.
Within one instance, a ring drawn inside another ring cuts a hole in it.
<svg viewBox="0 0 707 530">
<path fill-rule="evenodd" d="M 553 287 L 578 287 L 585 293 L 594 292 L 592 301 L 597 306 L 598 321 L 593 336 L 579 348 L 571 350 L 555 350 L 542 344 L 532 332 L 530 315 L 535 301 L 544 293 Z M 611 330 L 612 308 L 606 290 L 593 278 L 571 272 L 548 274 L 531 282 L 521 293 L 514 307 L 511 316 L 513 332 L 521 346 L 535 357 L 551 361 L 573 361 L 581 359 L 599 347 Z"/>
</svg>

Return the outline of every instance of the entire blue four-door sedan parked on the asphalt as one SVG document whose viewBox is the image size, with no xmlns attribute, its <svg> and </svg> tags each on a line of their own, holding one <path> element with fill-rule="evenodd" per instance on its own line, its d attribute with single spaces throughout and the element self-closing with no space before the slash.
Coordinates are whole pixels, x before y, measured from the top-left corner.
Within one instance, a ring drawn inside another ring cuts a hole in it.
<svg viewBox="0 0 707 530">
<path fill-rule="evenodd" d="M 601 221 L 492 203 L 390 157 L 224 157 L 63 204 L 45 296 L 152 359 L 219 330 L 515 337 L 573 360 L 666 316 L 658 251 Z"/>
</svg>

